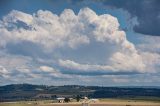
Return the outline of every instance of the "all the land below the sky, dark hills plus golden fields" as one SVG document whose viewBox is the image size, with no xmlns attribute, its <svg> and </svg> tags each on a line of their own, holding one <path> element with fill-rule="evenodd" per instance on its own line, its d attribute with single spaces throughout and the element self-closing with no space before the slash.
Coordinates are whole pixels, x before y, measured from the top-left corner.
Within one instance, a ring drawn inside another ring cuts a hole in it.
<svg viewBox="0 0 160 106">
<path fill-rule="evenodd" d="M 76 96 L 98 98 L 90 106 L 160 106 L 159 87 L 45 86 L 16 84 L 0 87 L 0 106 L 82 106 Z M 73 98 L 58 103 L 56 98 Z"/>
</svg>

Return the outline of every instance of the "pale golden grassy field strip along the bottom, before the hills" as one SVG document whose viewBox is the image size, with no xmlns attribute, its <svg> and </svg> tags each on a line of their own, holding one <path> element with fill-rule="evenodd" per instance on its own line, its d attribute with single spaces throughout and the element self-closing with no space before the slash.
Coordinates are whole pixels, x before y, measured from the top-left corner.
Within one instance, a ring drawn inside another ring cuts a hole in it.
<svg viewBox="0 0 160 106">
<path fill-rule="evenodd" d="M 3 102 L 0 106 L 82 106 L 82 102 L 56 103 L 53 100 Z M 125 99 L 100 99 L 89 106 L 160 106 L 160 101 L 125 100 Z"/>
</svg>

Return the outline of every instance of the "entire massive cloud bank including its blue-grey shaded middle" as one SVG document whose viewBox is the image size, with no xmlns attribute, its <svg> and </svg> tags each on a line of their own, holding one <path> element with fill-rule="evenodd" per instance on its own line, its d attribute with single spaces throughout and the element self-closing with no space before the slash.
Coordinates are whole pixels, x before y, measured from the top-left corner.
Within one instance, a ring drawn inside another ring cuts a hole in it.
<svg viewBox="0 0 160 106">
<path fill-rule="evenodd" d="M 13 79 L 27 77 L 28 81 L 78 78 L 74 72 L 155 72 L 160 60 L 158 54 L 136 49 L 116 17 L 98 15 L 90 8 L 83 8 L 78 14 L 65 9 L 60 15 L 43 10 L 34 14 L 13 10 L 0 21 L 0 49 L 1 74 Z M 103 61 L 96 58 L 100 52 L 105 52 Z M 36 56 L 33 58 L 32 54 Z M 87 57 L 96 59 L 87 61 Z"/>
</svg>

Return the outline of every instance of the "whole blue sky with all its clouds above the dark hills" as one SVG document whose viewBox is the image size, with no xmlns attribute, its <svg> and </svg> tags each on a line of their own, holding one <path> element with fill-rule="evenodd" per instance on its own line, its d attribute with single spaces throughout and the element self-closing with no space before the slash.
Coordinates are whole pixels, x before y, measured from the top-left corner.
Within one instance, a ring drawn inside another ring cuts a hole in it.
<svg viewBox="0 0 160 106">
<path fill-rule="evenodd" d="M 1 0 L 0 85 L 159 86 L 159 0 Z"/>
</svg>

